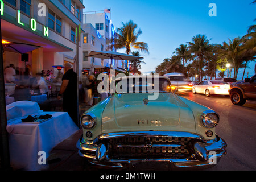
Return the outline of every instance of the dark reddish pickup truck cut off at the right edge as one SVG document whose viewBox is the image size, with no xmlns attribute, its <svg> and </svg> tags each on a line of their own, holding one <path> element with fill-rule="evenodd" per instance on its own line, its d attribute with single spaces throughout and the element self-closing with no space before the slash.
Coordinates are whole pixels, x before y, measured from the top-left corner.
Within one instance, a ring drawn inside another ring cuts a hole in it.
<svg viewBox="0 0 256 182">
<path fill-rule="evenodd" d="M 244 81 L 230 84 L 230 100 L 235 105 L 243 105 L 246 100 L 256 100 L 256 74 Z"/>
</svg>

